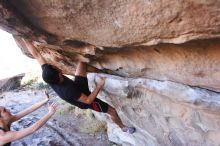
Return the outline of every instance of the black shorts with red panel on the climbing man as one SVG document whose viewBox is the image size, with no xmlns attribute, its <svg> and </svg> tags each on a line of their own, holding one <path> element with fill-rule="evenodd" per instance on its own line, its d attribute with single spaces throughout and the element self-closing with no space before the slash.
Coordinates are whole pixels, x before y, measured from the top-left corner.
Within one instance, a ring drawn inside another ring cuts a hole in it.
<svg viewBox="0 0 220 146">
<path fill-rule="evenodd" d="M 88 85 L 88 79 L 86 77 L 82 76 L 75 76 L 75 83 L 79 85 L 80 90 L 85 95 L 89 96 L 91 92 L 89 91 L 89 85 Z M 108 112 L 108 104 L 101 101 L 98 98 L 95 98 L 95 100 L 88 106 L 89 109 L 92 109 L 97 112 Z"/>
</svg>

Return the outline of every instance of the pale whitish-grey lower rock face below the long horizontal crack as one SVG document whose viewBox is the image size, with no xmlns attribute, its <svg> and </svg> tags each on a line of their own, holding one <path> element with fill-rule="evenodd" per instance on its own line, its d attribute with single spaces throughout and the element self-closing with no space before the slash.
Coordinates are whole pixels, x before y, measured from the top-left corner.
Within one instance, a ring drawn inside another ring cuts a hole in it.
<svg viewBox="0 0 220 146">
<path fill-rule="evenodd" d="M 127 135 L 110 121 L 111 141 L 134 146 L 220 144 L 219 93 L 170 81 L 106 77 L 100 98 L 137 128 Z M 89 79 L 94 88 L 98 76 L 90 74 Z"/>
</svg>

